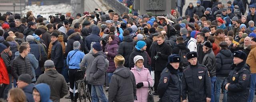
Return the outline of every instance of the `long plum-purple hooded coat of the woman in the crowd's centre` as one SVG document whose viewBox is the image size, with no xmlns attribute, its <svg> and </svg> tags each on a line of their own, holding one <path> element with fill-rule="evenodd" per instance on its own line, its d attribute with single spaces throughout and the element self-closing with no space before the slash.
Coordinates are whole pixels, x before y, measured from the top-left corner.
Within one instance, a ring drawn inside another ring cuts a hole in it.
<svg viewBox="0 0 256 102">
<path fill-rule="evenodd" d="M 118 55 L 118 41 L 119 39 L 114 38 L 112 41 L 107 41 L 105 46 L 105 52 L 108 52 L 107 59 L 109 61 L 109 66 L 107 73 L 113 73 L 116 70 L 114 58 Z"/>
</svg>

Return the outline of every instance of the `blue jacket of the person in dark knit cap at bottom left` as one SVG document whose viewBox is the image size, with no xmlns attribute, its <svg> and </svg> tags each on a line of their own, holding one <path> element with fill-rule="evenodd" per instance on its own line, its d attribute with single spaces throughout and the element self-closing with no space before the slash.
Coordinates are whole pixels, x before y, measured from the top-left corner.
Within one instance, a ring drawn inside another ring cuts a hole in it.
<svg viewBox="0 0 256 102">
<path fill-rule="evenodd" d="M 34 86 L 35 86 L 34 83 L 30 83 L 30 84 L 28 84 L 28 86 L 25 86 L 24 88 L 22 88 L 22 90 L 24 91 L 24 93 L 26 95 L 27 102 L 34 102 L 34 98 L 32 95 Z"/>
</svg>

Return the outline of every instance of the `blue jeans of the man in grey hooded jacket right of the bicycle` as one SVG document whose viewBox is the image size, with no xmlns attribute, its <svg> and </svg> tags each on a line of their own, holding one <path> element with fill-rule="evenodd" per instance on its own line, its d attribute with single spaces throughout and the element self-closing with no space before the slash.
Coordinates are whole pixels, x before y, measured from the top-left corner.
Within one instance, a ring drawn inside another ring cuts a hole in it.
<svg viewBox="0 0 256 102">
<path fill-rule="evenodd" d="M 104 92 L 103 85 L 92 85 L 92 102 L 108 102 Z"/>
</svg>

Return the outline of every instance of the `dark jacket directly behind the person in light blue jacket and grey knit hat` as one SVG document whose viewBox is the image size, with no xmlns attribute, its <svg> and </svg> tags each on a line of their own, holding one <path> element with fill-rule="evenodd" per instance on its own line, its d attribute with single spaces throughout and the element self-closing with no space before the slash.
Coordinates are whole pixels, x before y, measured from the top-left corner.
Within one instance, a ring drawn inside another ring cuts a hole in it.
<svg viewBox="0 0 256 102">
<path fill-rule="evenodd" d="M 80 33 L 76 32 L 76 33 L 72 33 L 69 37 L 68 37 L 68 42 L 67 42 L 67 46 L 65 49 L 65 56 L 68 55 L 68 53 L 70 51 L 73 50 L 73 43 L 75 41 L 79 41 L 80 42 L 80 50 L 84 51 L 84 43 L 82 41 L 82 38 L 80 36 Z"/>
</svg>

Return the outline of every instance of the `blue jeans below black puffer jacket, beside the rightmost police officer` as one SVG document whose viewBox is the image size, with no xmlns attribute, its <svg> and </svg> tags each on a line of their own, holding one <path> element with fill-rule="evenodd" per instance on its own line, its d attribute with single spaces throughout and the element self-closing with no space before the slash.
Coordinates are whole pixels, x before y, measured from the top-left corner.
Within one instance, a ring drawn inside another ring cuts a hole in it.
<svg viewBox="0 0 256 102">
<path fill-rule="evenodd" d="M 216 78 L 216 84 L 215 84 L 215 91 L 214 91 L 214 100 L 215 102 L 219 102 L 220 101 L 220 89 L 221 86 L 223 85 L 223 101 L 222 102 L 227 102 L 227 92 L 228 90 L 226 90 L 224 88 L 224 82 L 227 80 L 227 77 L 217 77 Z"/>
</svg>

